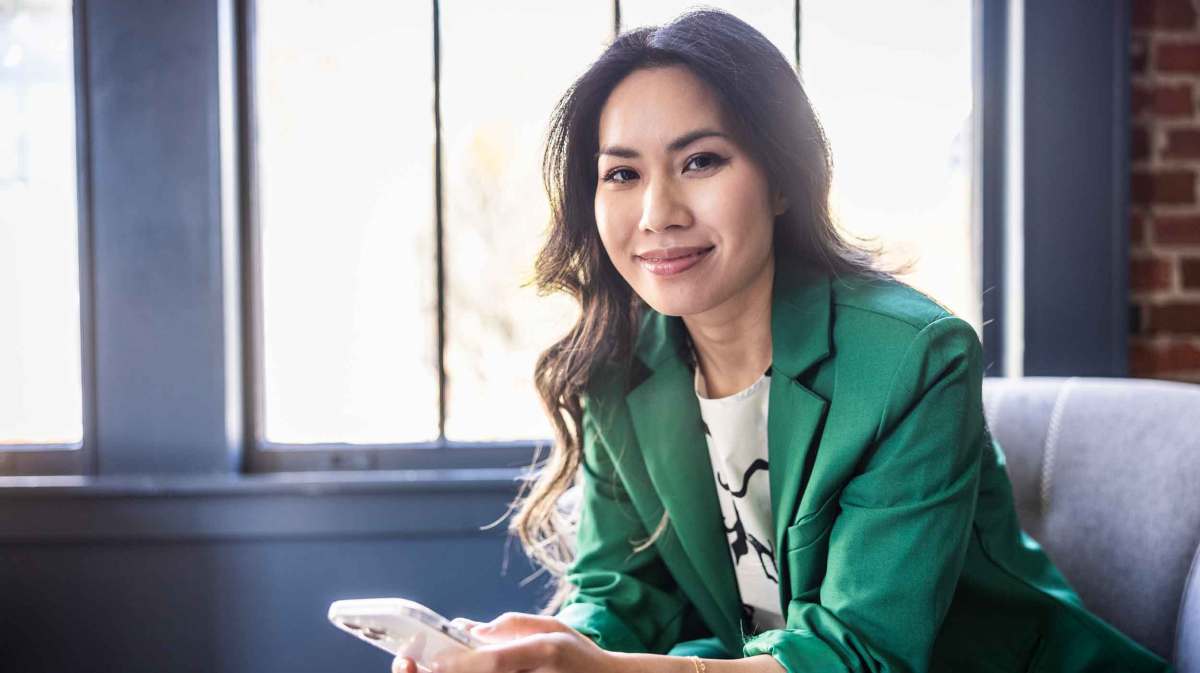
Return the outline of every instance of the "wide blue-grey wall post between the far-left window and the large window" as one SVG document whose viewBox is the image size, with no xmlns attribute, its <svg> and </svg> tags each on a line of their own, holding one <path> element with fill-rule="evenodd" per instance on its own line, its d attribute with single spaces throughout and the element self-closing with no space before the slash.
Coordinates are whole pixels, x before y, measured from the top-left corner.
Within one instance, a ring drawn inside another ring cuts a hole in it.
<svg viewBox="0 0 1200 673">
<path fill-rule="evenodd" d="M 86 7 L 97 474 L 220 474 L 217 2 Z"/>
</svg>

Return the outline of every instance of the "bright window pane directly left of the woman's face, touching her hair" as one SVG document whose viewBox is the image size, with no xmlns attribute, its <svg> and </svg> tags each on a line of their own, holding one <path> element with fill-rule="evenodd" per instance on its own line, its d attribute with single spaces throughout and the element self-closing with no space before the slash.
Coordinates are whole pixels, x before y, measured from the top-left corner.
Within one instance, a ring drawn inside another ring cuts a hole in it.
<svg viewBox="0 0 1200 673">
<path fill-rule="evenodd" d="M 445 434 L 460 441 L 551 437 L 533 366 L 575 323 L 577 308 L 522 287 L 550 222 L 541 148 L 558 97 L 612 38 L 612 6 L 439 5 Z"/>
</svg>

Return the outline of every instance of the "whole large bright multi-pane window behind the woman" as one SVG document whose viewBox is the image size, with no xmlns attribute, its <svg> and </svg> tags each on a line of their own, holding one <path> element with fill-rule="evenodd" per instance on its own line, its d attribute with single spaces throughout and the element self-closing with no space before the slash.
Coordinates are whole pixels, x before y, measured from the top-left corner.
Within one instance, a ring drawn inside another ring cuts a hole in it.
<svg viewBox="0 0 1200 673">
<path fill-rule="evenodd" d="M 576 308 L 527 284 L 548 223 L 548 114 L 614 16 L 626 29 L 690 5 L 258 0 L 260 467 L 298 464 L 295 449 L 550 437 L 533 365 Z M 978 326 L 970 4 L 880 4 L 895 16 L 865 25 L 830 1 L 716 6 L 804 62 L 844 228 L 917 258 L 907 280 Z"/>
</svg>

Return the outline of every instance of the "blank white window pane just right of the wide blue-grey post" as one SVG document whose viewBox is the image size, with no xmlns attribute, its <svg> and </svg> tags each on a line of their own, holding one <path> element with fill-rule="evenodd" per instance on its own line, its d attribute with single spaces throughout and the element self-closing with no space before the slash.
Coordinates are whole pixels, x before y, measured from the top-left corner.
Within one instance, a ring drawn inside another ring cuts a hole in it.
<svg viewBox="0 0 1200 673">
<path fill-rule="evenodd" d="M 254 10 L 263 439 L 436 439 L 431 5 Z"/>
</svg>

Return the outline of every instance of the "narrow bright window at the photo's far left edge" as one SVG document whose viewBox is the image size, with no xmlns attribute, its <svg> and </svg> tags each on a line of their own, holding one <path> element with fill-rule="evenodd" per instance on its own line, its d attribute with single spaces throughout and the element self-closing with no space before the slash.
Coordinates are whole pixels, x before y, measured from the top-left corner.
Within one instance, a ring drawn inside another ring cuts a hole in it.
<svg viewBox="0 0 1200 673">
<path fill-rule="evenodd" d="M 83 441 L 73 22 L 0 2 L 0 449 Z M 0 458 L 0 463 L 2 463 Z"/>
</svg>

